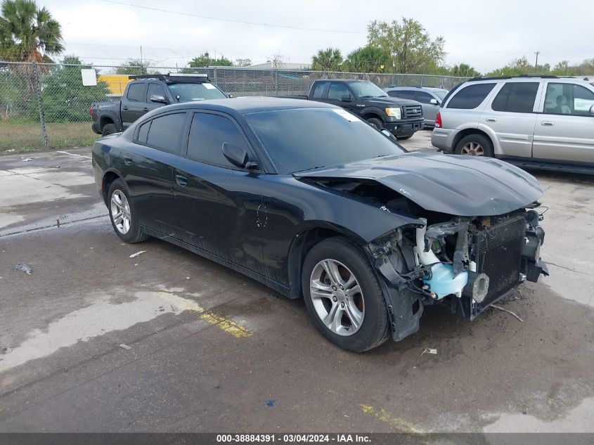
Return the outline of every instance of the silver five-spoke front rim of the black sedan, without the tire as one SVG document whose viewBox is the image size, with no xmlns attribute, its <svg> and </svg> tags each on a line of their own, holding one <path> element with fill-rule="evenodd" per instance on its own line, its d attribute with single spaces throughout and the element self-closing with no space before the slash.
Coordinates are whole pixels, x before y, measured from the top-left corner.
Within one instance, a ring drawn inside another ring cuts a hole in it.
<svg viewBox="0 0 594 445">
<path fill-rule="evenodd" d="M 365 316 L 365 299 L 354 273 L 335 259 L 323 259 L 311 271 L 309 294 L 316 314 L 337 335 L 356 333 Z"/>
</svg>

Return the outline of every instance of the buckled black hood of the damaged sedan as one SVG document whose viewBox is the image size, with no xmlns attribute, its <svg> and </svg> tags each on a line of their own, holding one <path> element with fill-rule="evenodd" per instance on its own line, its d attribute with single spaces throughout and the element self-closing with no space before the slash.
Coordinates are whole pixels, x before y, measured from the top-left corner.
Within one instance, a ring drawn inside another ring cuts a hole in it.
<svg viewBox="0 0 594 445">
<path fill-rule="evenodd" d="M 437 153 L 378 157 L 294 176 L 373 180 L 424 209 L 462 217 L 505 214 L 543 195 L 534 176 L 507 162 Z"/>
</svg>

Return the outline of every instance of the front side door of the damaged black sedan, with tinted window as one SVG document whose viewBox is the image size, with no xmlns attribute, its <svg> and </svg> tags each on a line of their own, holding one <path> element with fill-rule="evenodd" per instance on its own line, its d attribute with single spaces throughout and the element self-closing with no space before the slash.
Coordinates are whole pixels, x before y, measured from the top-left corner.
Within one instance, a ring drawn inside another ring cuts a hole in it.
<svg viewBox="0 0 594 445">
<path fill-rule="evenodd" d="M 176 162 L 174 195 L 183 240 L 235 265 L 262 273 L 261 173 L 238 169 L 222 153 L 223 143 L 244 148 L 255 159 L 232 117 L 194 112 L 185 157 Z"/>
</svg>

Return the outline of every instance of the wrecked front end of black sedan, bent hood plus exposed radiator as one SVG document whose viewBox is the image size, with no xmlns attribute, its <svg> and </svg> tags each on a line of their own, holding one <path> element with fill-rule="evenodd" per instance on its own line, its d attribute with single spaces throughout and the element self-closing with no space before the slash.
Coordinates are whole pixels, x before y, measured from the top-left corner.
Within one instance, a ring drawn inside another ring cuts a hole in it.
<svg viewBox="0 0 594 445">
<path fill-rule="evenodd" d="M 548 275 L 536 179 L 498 160 L 458 158 L 407 153 L 299 176 L 394 215 L 394 227 L 364 248 L 396 341 L 419 329 L 426 306 L 472 320 L 522 281 Z M 466 186 L 479 182 L 482 194 Z"/>
</svg>

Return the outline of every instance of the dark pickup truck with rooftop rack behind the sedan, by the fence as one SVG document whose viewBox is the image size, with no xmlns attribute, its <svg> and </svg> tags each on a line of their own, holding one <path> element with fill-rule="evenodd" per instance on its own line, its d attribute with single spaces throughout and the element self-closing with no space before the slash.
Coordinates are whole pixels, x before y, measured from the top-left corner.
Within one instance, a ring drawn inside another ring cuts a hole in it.
<svg viewBox="0 0 594 445">
<path fill-rule="evenodd" d="M 107 136 L 127 129 L 150 110 L 172 103 L 221 99 L 227 96 L 207 75 L 130 76 L 121 101 L 91 103 L 91 128 Z"/>
</svg>

